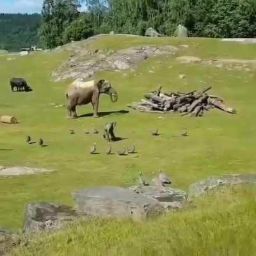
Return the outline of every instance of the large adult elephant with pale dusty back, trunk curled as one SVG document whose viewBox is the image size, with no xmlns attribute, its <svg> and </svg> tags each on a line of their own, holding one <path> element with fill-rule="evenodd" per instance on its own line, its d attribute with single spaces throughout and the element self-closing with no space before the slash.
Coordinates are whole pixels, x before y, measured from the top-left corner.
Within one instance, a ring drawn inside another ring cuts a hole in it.
<svg viewBox="0 0 256 256">
<path fill-rule="evenodd" d="M 118 100 L 116 90 L 111 86 L 108 80 L 100 79 L 99 81 L 77 81 L 71 83 L 66 91 L 68 118 L 77 118 L 76 106 L 92 103 L 93 117 L 98 116 L 100 93 L 110 95 L 111 102 Z"/>
</svg>

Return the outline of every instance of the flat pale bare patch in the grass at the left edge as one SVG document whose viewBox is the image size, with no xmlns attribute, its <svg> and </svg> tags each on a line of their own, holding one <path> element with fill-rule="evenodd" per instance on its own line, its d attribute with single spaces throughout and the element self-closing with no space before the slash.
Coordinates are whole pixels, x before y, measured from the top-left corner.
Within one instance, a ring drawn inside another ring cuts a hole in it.
<svg viewBox="0 0 256 256">
<path fill-rule="evenodd" d="M 50 173 L 53 170 L 29 168 L 24 166 L 4 168 L 0 166 L 0 176 L 32 175 L 36 173 Z"/>
</svg>

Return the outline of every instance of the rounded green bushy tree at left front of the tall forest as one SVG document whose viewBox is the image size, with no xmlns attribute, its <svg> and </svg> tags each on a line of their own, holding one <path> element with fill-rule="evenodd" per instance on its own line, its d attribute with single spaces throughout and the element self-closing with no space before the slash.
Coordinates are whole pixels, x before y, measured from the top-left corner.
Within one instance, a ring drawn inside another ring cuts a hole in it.
<svg viewBox="0 0 256 256">
<path fill-rule="evenodd" d="M 92 22 L 88 13 L 82 13 L 80 17 L 72 21 L 63 32 L 63 43 L 77 41 L 93 35 Z"/>
</svg>

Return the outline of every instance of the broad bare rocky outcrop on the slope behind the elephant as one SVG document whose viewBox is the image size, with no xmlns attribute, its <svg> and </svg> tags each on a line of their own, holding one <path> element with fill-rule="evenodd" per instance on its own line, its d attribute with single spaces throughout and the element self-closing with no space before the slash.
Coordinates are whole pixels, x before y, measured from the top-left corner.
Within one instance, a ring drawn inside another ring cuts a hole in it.
<svg viewBox="0 0 256 256">
<path fill-rule="evenodd" d="M 92 40 L 92 39 L 90 39 Z M 86 42 L 65 45 L 72 50 L 70 58 L 52 72 L 52 79 L 60 81 L 67 78 L 87 79 L 100 70 L 127 70 L 152 56 L 175 54 L 179 49 L 174 46 L 144 46 L 119 51 L 94 52 L 86 49 Z"/>
</svg>

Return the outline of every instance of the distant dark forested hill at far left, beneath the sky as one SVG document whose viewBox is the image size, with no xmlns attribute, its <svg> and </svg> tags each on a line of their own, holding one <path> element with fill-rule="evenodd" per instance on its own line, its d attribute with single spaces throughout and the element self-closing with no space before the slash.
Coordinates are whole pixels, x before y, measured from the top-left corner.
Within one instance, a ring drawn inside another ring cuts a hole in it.
<svg viewBox="0 0 256 256">
<path fill-rule="evenodd" d="M 38 45 L 41 15 L 0 13 L 0 49 L 19 51 L 21 47 Z"/>
</svg>

